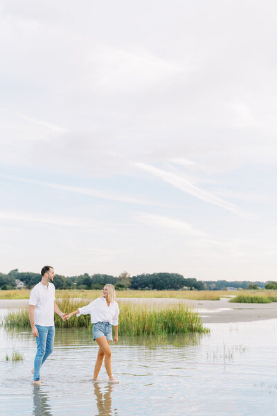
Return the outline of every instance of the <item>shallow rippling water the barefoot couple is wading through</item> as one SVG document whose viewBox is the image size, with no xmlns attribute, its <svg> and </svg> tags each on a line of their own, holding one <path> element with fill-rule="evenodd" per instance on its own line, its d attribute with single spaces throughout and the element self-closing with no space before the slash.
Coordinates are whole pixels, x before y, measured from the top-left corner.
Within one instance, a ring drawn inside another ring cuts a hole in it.
<svg viewBox="0 0 277 416">
<path fill-rule="evenodd" d="M 40 387 L 32 334 L 1 328 L 0 415 L 276 415 L 277 320 L 206 326 L 202 336 L 120 338 L 111 346 L 119 385 L 107 383 L 104 366 L 92 383 L 91 331 L 56 330 Z M 6 362 L 12 350 L 24 361 Z"/>
</svg>

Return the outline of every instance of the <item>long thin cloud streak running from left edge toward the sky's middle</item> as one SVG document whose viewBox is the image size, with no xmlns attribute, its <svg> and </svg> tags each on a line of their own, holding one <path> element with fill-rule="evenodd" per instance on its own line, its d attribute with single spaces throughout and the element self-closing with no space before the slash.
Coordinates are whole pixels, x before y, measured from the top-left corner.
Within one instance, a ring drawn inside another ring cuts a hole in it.
<svg viewBox="0 0 277 416">
<path fill-rule="evenodd" d="M 91 188 L 86 188 L 86 187 L 71 187 L 69 185 L 53 184 L 51 182 L 26 179 L 23 177 L 18 177 L 18 176 L 13 176 L 13 175 L 0 175 L 0 177 L 6 177 L 7 179 L 10 179 L 10 180 L 17 180 L 20 182 L 35 184 L 39 187 L 58 189 L 59 191 L 66 191 L 66 192 L 72 192 L 72 193 L 80 193 L 81 195 L 93 196 L 94 198 L 102 198 L 106 200 L 114 200 L 118 202 L 127 202 L 127 203 L 140 204 L 140 205 L 160 205 L 156 202 L 145 200 L 143 198 L 125 196 L 125 195 L 120 195 L 118 193 L 100 191 L 98 189 L 91 189 Z"/>
</svg>

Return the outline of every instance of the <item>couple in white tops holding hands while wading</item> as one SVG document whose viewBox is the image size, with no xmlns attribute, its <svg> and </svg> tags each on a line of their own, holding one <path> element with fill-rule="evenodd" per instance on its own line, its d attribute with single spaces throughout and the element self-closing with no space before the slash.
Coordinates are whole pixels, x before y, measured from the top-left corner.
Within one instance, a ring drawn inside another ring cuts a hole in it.
<svg viewBox="0 0 277 416">
<path fill-rule="evenodd" d="M 40 369 L 46 358 L 53 352 L 55 326 L 54 312 L 60 315 L 62 320 L 70 319 L 72 315 L 91 314 L 93 324 L 93 340 L 98 343 L 99 349 L 94 366 L 93 381 L 97 381 L 103 359 L 109 377 L 109 383 L 119 383 L 111 372 L 111 349 L 109 343 L 112 340 L 111 327 L 114 327 L 114 342 L 118 341 L 118 315 L 119 308 L 116 302 L 116 291 L 112 284 L 106 284 L 102 290 L 102 297 L 93 300 L 87 306 L 71 313 L 63 313 L 55 302 L 55 286 L 53 280 L 55 271 L 52 266 L 44 266 L 41 271 L 42 280 L 36 284 L 30 292 L 29 319 L 33 336 L 37 342 L 37 354 L 35 356 L 33 373 L 34 384 L 42 384 L 40 381 Z"/>
</svg>

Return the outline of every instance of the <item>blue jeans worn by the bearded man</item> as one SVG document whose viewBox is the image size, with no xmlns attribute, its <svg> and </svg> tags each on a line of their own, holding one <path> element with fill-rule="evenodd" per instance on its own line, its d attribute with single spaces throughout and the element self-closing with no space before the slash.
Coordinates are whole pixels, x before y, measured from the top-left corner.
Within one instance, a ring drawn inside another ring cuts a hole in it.
<svg viewBox="0 0 277 416">
<path fill-rule="evenodd" d="M 34 362 L 34 380 L 39 380 L 40 367 L 51 354 L 54 347 L 55 327 L 42 327 L 35 325 L 39 336 L 35 338 L 37 341 L 37 354 Z"/>
</svg>

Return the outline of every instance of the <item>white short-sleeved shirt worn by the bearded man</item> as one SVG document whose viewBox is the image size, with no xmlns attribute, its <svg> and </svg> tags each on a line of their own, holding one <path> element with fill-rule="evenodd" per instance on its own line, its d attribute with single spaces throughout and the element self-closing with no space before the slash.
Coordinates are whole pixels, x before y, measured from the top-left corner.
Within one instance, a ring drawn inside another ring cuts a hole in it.
<svg viewBox="0 0 277 416">
<path fill-rule="evenodd" d="M 34 318 L 36 325 L 52 327 L 54 324 L 55 286 L 48 286 L 39 281 L 30 291 L 29 305 L 34 305 Z"/>
</svg>

